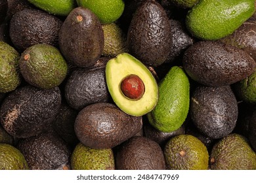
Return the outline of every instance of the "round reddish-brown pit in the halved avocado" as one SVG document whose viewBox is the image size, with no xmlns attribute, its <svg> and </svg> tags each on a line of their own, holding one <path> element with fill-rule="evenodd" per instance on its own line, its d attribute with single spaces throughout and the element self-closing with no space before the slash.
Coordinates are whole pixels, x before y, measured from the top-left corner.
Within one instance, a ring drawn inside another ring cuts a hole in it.
<svg viewBox="0 0 256 183">
<path fill-rule="evenodd" d="M 145 86 L 137 75 L 126 76 L 120 84 L 121 92 L 125 97 L 132 100 L 139 100 L 145 92 Z"/>
</svg>

